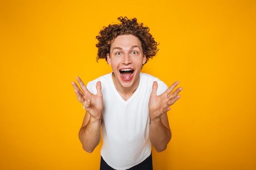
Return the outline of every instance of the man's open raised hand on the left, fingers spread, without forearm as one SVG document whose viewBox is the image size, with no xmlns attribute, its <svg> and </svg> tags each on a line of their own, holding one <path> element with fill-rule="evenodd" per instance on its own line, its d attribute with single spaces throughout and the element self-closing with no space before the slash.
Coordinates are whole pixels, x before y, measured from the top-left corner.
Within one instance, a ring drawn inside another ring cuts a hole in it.
<svg viewBox="0 0 256 170">
<path fill-rule="evenodd" d="M 82 89 L 81 90 L 75 82 L 72 82 L 78 101 L 83 104 L 86 112 L 89 113 L 94 119 L 101 119 L 101 111 L 103 109 L 101 82 L 97 82 L 97 94 L 93 95 L 90 91 L 88 91 L 87 87 L 79 77 L 76 77 L 76 80 Z"/>
</svg>

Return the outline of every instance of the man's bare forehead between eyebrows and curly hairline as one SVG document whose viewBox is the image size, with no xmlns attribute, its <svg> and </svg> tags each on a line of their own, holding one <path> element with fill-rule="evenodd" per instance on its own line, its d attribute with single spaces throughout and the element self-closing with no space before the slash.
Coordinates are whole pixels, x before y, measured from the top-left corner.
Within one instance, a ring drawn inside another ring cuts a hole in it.
<svg viewBox="0 0 256 170">
<path fill-rule="evenodd" d="M 135 37 L 134 35 L 119 35 L 111 43 L 110 49 L 130 49 L 136 46 L 142 49 L 139 38 Z"/>
</svg>

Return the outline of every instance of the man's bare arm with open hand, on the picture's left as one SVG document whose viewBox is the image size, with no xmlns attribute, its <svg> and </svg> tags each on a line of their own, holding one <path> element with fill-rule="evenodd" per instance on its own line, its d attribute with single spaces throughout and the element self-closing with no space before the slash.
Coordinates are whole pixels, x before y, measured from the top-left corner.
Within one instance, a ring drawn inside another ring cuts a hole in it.
<svg viewBox="0 0 256 170">
<path fill-rule="evenodd" d="M 83 124 L 79 131 L 79 139 L 83 149 L 91 153 L 101 140 L 101 111 L 103 108 L 101 83 L 97 82 L 97 94 L 93 95 L 79 77 L 76 77 L 76 79 L 82 90 L 75 82 L 72 82 L 72 85 L 78 101 L 83 104 L 86 110 Z"/>
</svg>

